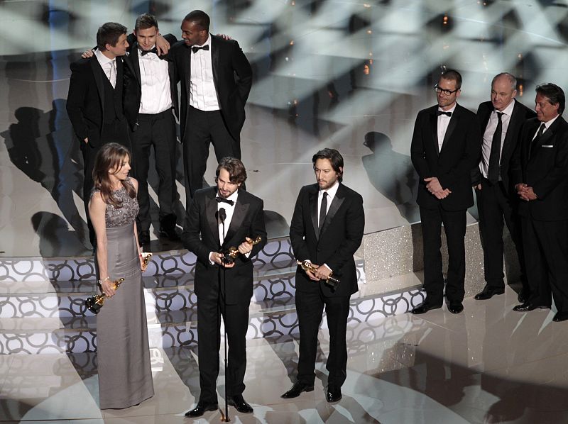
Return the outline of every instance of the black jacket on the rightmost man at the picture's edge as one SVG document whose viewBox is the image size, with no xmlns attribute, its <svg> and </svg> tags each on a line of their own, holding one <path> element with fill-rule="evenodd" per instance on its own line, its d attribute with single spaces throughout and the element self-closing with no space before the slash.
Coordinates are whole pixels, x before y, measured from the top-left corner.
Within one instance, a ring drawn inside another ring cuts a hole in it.
<svg viewBox="0 0 568 424">
<path fill-rule="evenodd" d="M 520 201 L 518 213 L 536 221 L 568 219 L 568 123 L 559 116 L 537 142 L 532 138 L 540 121 L 532 118 L 520 130 L 520 145 L 513 158 L 512 184 L 531 186 L 538 199 Z"/>
</svg>

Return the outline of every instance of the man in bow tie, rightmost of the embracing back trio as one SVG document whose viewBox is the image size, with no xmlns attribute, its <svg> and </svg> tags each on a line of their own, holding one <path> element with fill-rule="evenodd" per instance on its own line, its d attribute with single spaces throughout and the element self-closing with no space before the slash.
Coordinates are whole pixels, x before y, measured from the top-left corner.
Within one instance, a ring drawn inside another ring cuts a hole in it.
<svg viewBox="0 0 568 424">
<path fill-rule="evenodd" d="M 240 133 L 252 69 L 236 40 L 209 34 L 207 13 L 188 13 L 181 29 L 183 40 L 169 54 L 181 82 L 180 129 L 189 204 L 202 187 L 210 143 L 217 160 L 241 157 Z"/>
</svg>

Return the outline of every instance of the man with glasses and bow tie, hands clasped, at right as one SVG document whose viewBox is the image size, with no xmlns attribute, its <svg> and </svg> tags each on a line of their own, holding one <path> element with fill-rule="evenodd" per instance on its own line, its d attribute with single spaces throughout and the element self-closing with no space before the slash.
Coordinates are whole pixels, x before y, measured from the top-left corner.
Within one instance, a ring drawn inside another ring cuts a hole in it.
<svg viewBox="0 0 568 424">
<path fill-rule="evenodd" d="M 466 210 L 474 204 L 471 169 L 479 163 L 481 133 L 475 113 L 457 104 L 461 75 L 448 69 L 435 86 L 438 104 L 418 112 L 410 158 L 420 177 L 417 203 L 422 221 L 426 300 L 412 313 L 441 308 L 442 223 L 448 247 L 445 295 L 452 313 L 464 310 Z"/>
</svg>

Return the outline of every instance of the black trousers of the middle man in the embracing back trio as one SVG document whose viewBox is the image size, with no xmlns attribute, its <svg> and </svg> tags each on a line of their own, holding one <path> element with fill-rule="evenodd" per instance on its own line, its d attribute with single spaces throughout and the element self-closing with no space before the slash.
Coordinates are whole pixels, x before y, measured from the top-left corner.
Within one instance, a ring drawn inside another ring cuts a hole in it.
<svg viewBox="0 0 568 424">
<path fill-rule="evenodd" d="M 155 115 L 139 113 L 138 126 L 130 135 L 132 174 L 138 180 L 138 231 L 148 231 L 151 224 L 148 195 L 151 147 L 154 148 L 155 170 L 159 180 L 160 229 L 175 228 L 174 204 L 178 199 L 178 191 L 175 189 L 175 118 L 171 109 Z"/>
</svg>

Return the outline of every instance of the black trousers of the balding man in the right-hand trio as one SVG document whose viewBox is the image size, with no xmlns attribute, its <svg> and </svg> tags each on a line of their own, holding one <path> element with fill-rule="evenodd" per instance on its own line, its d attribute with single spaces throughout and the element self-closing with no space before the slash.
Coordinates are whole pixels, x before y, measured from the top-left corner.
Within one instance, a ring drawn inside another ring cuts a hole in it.
<svg viewBox="0 0 568 424">
<path fill-rule="evenodd" d="M 517 250 L 521 271 L 523 291 L 529 292 L 525 276 L 525 258 L 520 233 L 520 219 L 513 208 L 511 199 L 503 187 L 503 182 L 491 184 L 488 179 L 481 180 L 481 190 L 475 191 L 479 211 L 479 230 L 484 248 L 485 281 L 488 286 L 503 289 L 503 221 Z"/>
</svg>

